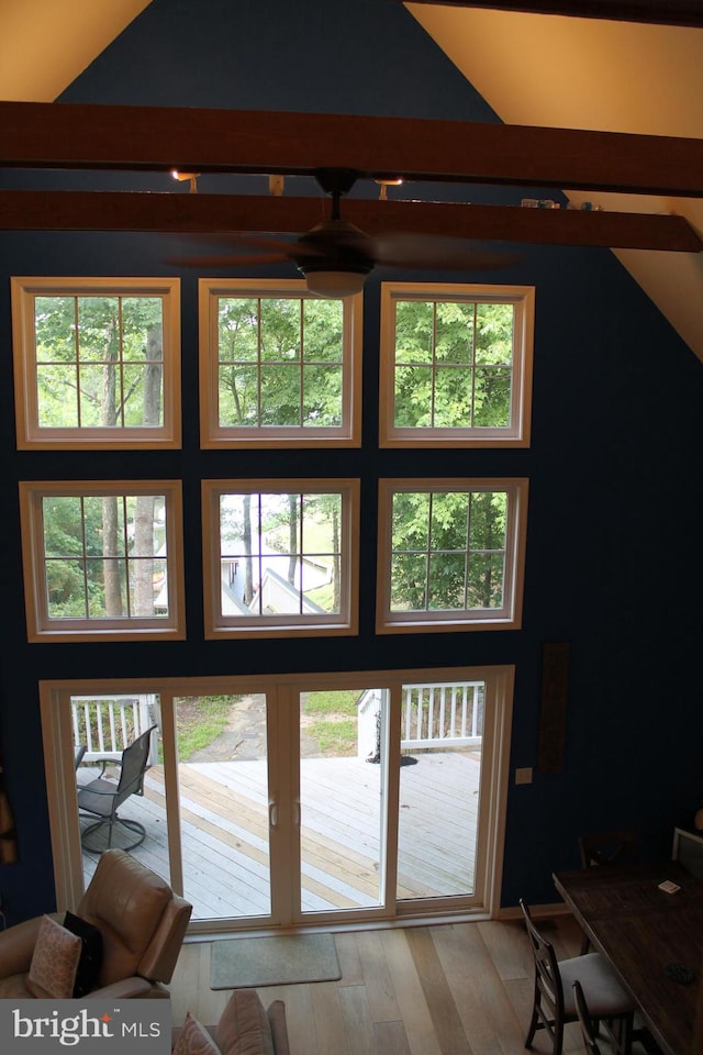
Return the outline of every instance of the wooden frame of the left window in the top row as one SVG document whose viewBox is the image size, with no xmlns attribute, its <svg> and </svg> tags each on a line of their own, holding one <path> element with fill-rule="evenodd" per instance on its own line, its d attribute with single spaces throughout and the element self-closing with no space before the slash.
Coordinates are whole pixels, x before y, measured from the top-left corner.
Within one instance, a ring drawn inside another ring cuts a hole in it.
<svg viewBox="0 0 703 1055">
<path fill-rule="evenodd" d="M 91 451 L 177 448 L 181 445 L 180 410 L 180 281 L 176 278 L 40 278 L 14 277 L 12 342 L 16 442 L 20 451 Z M 35 297 L 98 296 L 161 297 L 164 301 L 164 423 L 160 427 L 49 429 L 38 423 Z"/>
</svg>

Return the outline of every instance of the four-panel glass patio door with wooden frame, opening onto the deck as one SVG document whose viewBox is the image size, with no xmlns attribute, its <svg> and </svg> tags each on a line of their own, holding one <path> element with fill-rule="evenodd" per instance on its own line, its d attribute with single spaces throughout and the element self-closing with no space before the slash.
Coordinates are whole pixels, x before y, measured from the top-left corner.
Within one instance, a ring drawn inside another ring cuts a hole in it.
<svg viewBox="0 0 703 1055">
<path fill-rule="evenodd" d="M 76 785 L 104 755 L 119 780 L 122 751 L 154 726 L 119 812 L 194 931 L 490 911 L 511 700 L 509 667 L 45 685 L 58 903 L 97 862 Z"/>
</svg>

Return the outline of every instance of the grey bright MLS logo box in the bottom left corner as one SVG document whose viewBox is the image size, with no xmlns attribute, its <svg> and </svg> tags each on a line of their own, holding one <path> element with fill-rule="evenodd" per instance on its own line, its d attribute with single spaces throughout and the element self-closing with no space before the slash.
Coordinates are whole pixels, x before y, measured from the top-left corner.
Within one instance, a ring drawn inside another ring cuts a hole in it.
<svg viewBox="0 0 703 1055">
<path fill-rule="evenodd" d="M 169 1000 L 0 1000 L 3 1055 L 170 1055 Z"/>
</svg>

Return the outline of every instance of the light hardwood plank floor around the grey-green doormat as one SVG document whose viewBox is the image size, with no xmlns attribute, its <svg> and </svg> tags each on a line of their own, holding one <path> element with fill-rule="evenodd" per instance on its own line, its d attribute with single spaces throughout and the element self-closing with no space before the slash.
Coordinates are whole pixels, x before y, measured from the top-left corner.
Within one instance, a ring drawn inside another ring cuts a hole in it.
<svg viewBox="0 0 703 1055">
<path fill-rule="evenodd" d="M 557 956 L 577 955 L 570 917 L 540 921 Z M 520 1055 L 533 992 L 521 922 L 471 922 L 335 934 L 338 981 L 259 989 L 286 1001 L 292 1055 Z M 216 1022 L 230 992 L 210 989 L 211 943 L 185 945 L 171 982 L 174 1024 L 186 1011 Z M 538 1033 L 535 1053 L 549 1052 Z M 581 1055 L 579 1028 L 566 1053 Z"/>
</svg>

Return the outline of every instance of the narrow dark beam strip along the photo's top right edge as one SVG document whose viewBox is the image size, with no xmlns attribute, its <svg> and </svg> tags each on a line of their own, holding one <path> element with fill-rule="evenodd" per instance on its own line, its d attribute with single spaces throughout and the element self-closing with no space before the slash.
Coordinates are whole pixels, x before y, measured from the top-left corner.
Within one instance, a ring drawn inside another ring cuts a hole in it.
<svg viewBox="0 0 703 1055">
<path fill-rule="evenodd" d="M 402 3 L 403 0 L 397 0 Z M 612 22 L 650 22 L 659 25 L 703 26 L 701 0 L 411 0 L 453 8 L 488 8 L 521 14 L 558 14 Z"/>
</svg>

